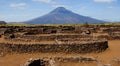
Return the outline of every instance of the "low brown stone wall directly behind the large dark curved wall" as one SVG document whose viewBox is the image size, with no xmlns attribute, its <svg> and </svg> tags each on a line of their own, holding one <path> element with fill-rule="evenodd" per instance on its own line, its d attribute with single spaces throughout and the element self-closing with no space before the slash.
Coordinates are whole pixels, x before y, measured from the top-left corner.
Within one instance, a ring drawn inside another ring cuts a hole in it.
<svg viewBox="0 0 120 66">
<path fill-rule="evenodd" d="M 80 40 L 82 38 L 92 38 L 90 35 L 46 35 L 46 36 L 40 36 L 40 35 L 14 35 L 15 38 L 12 39 L 12 41 L 54 41 L 56 39 L 65 39 L 68 38 L 70 40 Z M 8 37 L 8 36 L 7 36 Z M 9 38 L 5 38 L 9 39 Z"/>
</svg>

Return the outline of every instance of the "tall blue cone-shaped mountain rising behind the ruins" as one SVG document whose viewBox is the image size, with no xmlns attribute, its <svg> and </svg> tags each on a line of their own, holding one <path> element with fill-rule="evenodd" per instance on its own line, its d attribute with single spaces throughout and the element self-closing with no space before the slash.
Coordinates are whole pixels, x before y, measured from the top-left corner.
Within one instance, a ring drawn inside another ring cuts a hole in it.
<svg viewBox="0 0 120 66">
<path fill-rule="evenodd" d="M 73 13 L 64 7 L 58 7 L 44 16 L 25 21 L 27 24 L 80 24 L 84 22 L 104 23 L 104 21 L 101 20 Z"/>
</svg>

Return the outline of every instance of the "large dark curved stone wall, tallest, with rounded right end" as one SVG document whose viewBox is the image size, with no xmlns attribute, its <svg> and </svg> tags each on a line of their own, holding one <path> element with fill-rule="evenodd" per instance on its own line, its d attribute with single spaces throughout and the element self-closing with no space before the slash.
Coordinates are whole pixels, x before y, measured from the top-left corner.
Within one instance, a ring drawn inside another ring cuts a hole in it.
<svg viewBox="0 0 120 66">
<path fill-rule="evenodd" d="M 102 52 L 108 48 L 108 42 L 78 44 L 5 44 L 0 43 L 2 53 L 90 53 Z"/>
</svg>

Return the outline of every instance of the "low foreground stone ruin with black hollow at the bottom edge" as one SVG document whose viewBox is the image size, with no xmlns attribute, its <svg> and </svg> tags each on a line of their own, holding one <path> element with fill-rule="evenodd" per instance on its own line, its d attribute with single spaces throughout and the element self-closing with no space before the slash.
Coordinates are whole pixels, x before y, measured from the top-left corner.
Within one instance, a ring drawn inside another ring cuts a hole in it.
<svg viewBox="0 0 120 66">
<path fill-rule="evenodd" d="M 30 58 L 23 66 L 62 66 L 64 63 L 96 63 L 94 57 L 52 57 L 52 58 Z"/>
</svg>

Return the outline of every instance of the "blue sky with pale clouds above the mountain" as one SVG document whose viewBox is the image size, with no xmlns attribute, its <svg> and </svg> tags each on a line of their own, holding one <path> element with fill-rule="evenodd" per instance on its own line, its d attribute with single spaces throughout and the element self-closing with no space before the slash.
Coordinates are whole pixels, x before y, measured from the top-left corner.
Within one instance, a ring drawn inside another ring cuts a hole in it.
<svg viewBox="0 0 120 66">
<path fill-rule="evenodd" d="M 100 20 L 120 21 L 120 0 L 0 0 L 0 21 L 27 21 L 57 7 Z"/>
</svg>

